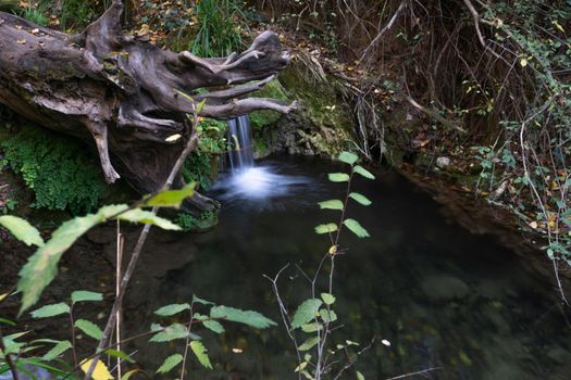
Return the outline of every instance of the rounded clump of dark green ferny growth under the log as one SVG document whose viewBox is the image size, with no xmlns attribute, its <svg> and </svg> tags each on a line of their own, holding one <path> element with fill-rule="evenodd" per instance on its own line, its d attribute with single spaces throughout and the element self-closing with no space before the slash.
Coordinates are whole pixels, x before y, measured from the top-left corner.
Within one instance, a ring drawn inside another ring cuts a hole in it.
<svg viewBox="0 0 571 380">
<path fill-rule="evenodd" d="M 33 207 L 73 214 L 97 208 L 107 185 L 99 162 L 85 147 L 34 126 L 10 134 L 2 130 L 1 135 L 5 162 L 34 192 Z"/>
</svg>

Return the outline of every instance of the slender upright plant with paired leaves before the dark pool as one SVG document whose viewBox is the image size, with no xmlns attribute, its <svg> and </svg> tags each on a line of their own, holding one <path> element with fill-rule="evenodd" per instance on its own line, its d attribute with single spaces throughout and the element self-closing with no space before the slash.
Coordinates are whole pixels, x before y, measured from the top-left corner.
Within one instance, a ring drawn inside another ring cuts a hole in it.
<svg viewBox="0 0 571 380">
<path fill-rule="evenodd" d="M 333 199 L 319 202 L 322 210 L 332 210 L 339 213 L 337 221 L 330 221 L 315 227 L 319 235 L 327 235 L 331 240 L 328 252 L 321 259 L 318 269 L 312 278 L 306 273 L 303 277 L 311 284 L 310 297 L 301 302 L 296 312 L 291 315 L 283 302 L 277 280 L 280 275 L 288 267 L 282 268 L 274 278 L 265 276 L 273 287 L 277 297 L 280 312 L 287 333 L 296 346 L 298 365 L 295 372 L 298 379 L 321 380 L 324 378 L 339 379 L 340 376 L 351 368 L 360 354 L 371 347 L 371 344 L 361 347 L 357 342 L 346 340 L 343 344 L 333 344 L 331 334 L 339 326 L 338 316 L 334 311 L 336 297 L 333 291 L 335 259 L 338 255 L 346 252 L 339 245 L 339 238 L 344 228 L 347 228 L 358 238 L 369 238 L 369 231 L 361 224 L 347 217 L 347 210 L 350 204 L 369 206 L 371 201 L 363 194 L 351 191 L 355 175 L 369 180 L 375 179 L 374 175 L 361 165 L 358 165 L 359 157 L 350 152 L 343 152 L 338 161 L 349 165 L 348 173 L 330 173 L 328 180 L 337 183 L 347 183 L 344 199 Z M 318 289 L 318 278 L 322 273 L 324 264 L 330 262 L 330 273 L 326 289 Z M 299 269 L 301 270 L 301 269 Z M 364 379 L 360 371 L 356 371 L 358 379 Z"/>
</svg>

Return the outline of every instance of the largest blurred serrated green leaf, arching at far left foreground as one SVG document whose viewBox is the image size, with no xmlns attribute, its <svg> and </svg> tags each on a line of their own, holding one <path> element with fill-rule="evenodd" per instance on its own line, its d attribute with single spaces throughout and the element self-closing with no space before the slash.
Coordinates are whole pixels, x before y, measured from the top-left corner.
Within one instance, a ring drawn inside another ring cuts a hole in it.
<svg viewBox="0 0 571 380">
<path fill-rule="evenodd" d="M 51 239 L 36 251 L 20 270 L 17 289 L 22 291 L 20 315 L 38 302 L 44 289 L 58 274 L 58 263 L 63 253 L 91 227 L 105 221 L 107 218 L 127 210 L 127 205 L 110 205 L 89 214 L 63 223 Z"/>
</svg>

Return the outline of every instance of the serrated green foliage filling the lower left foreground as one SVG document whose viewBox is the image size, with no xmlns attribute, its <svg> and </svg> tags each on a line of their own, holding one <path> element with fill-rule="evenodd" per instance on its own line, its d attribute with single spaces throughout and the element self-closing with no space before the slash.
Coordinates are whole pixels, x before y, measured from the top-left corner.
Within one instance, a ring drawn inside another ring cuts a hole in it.
<svg viewBox="0 0 571 380">
<path fill-rule="evenodd" d="M 90 228 L 101 223 L 116 219 L 146 225 L 152 224 L 163 229 L 179 229 L 178 226 L 170 220 L 157 216 L 157 207 L 178 207 L 185 199 L 193 197 L 194 188 L 195 183 L 191 183 L 181 190 L 162 191 L 148 195 L 132 206 L 104 206 L 95 214 L 76 217 L 62 224 L 48 241 L 44 241 L 40 232 L 25 219 L 11 215 L 0 216 L 0 226 L 7 228 L 25 244 L 37 246 L 36 253 L 28 258 L 27 264 L 20 271 L 17 292 L 10 291 L 5 294 L 0 294 L 0 303 L 9 296 L 22 293 L 22 305 L 18 316 L 34 306 L 46 287 L 57 276 L 58 264 L 65 251 Z M 153 211 L 142 210 L 145 207 L 153 207 Z M 27 332 L 17 332 L 3 337 L 2 327 L 14 328 L 16 322 L 9 318 L 0 318 L 0 375 L 11 372 L 12 377 L 17 380 L 18 373 L 25 373 L 35 378 L 38 373 L 47 372 L 57 378 L 74 379 L 80 369 L 86 373 L 90 373 L 86 375 L 86 378 L 89 379 L 114 379 L 114 370 L 108 368 L 100 360 L 100 357 L 114 357 L 124 364 L 135 364 L 135 359 L 124 351 L 121 351 L 120 347 L 123 343 L 135 338 L 151 337 L 150 342 L 153 343 L 171 343 L 176 340 L 185 341 L 184 354 L 169 356 L 157 370 L 157 373 L 166 373 L 182 364 L 179 378 L 183 379 L 186 373 L 185 368 L 189 351 L 193 351 L 203 367 L 212 368 L 206 345 L 202 343 L 201 338 L 191 331 L 191 328 L 196 329 L 198 326 L 201 326 L 215 333 L 223 333 L 225 330 L 222 324 L 225 321 L 238 322 L 258 329 L 265 329 L 276 325 L 257 312 L 215 305 L 212 302 L 195 296 L 191 303 L 166 305 L 156 312 L 159 317 L 174 317 L 187 312 L 188 319 L 186 322 L 175 322 L 167 326 L 154 324 L 151 326 L 150 331 L 123 340 L 117 339 L 117 342 L 105 342 L 105 344 L 101 345 L 101 341 L 108 340 L 105 339 L 105 332 L 94 321 L 84 318 L 75 319 L 74 306 L 78 303 L 100 302 L 102 300 L 103 295 L 101 293 L 84 290 L 75 291 L 72 293 L 70 302 L 45 305 L 30 313 L 34 319 L 66 316 L 71 328 L 70 340 L 36 339 L 23 341 L 22 339 L 26 337 Z M 94 355 L 83 359 L 78 359 L 77 355 L 76 338 L 78 331 L 100 342 L 101 345 Z M 70 351 L 72 352 L 73 362 L 72 359 L 65 360 Z M 42 353 L 42 355 L 38 355 L 38 352 Z M 121 366 L 117 365 L 115 368 L 119 369 L 117 378 L 122 380 L 128 380 L 135 373 L 142 372 L 140 368 L 135 367 L 121 376 Z"/>
</svg>

